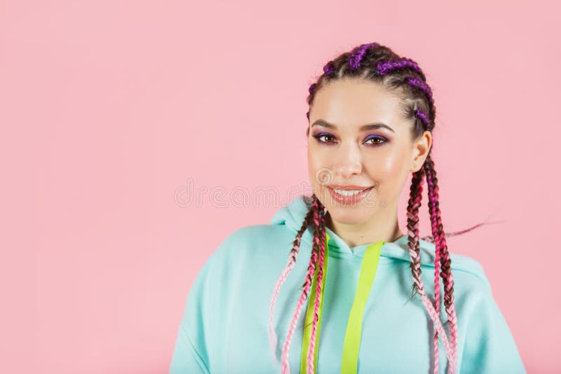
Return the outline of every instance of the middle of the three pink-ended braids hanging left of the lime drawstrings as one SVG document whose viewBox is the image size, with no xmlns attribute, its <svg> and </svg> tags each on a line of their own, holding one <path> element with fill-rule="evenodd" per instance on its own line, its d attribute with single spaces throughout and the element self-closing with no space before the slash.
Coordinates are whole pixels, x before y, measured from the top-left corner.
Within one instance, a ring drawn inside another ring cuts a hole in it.
<svg viewBox="0 0 561 374">
<path fill-rule="evenodd" d="M 292 342 L 292 335 L 294 335 L 294 331 L 296 329 L 296 322 L 298 321 L 298 317 L 302 312 L 302 307 L 304 306 L 304 302 L 308 298 L 308 293 L 311 288 L 312 280 L 313 280 L 313 273 L 316 270 L 316 264 L 318 263 L 319 257 L 319 249 L 320 249 L 320 237 L 319 237 L 319 212 L 322 207 L 320 207 L 320 202 L 316 195 L 313 195 L 313 240 L 312 240 L 312 251 L 310 256 L 310 262 L 308 265 L 308 272 L 306 273 L 306 279 L 304 284 L 302 285 L 302 294 L 300 295 L 300 299 L 296 306 L 295 314 L 292 316 L 292 321 L 290 321 L 290 326 L 288 328 L 288 333 L 286 334 L 286 341 L 285 345 L 283 346 L 283 354 L 280 358 L 281 365 L 282 365 L 282 372 L 290 373 L 290 366 L 288 363 L 288 350 L 290 349 L 290 343 Z"/>
</svg>

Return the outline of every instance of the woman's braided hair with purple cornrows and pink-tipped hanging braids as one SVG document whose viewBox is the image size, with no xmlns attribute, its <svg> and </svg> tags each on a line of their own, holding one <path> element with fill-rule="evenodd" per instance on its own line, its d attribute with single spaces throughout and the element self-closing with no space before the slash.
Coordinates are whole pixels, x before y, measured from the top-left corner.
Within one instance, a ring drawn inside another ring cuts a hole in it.
<svg viewBox="0 0 561 374">
<path fill-rule="evenodd" d="M 435 125 L 435 104 L 431 88 L 426 83 L 426 76 L 419 68 L 417 62 L 405 57 L 396 55 L 390 48 L 381 46 L 378 43 L 366 43 L 350 52 L 343 53 L 339 57 L 327 62 L 323 67 L 323 74 L 318 78 L 316 83 L 309 87 L 309 96 L 307 102 L 309 106 L 313 104 L 316 92 L 330 83 L 330 81 L 341 78 L 362 78 L 367 81 L 374 81 L 390 88 L 403 98 L 405 103 L 404 115 L 407 119 L 413 121 L 412 139 L 421 137 L 424 131 L 432 131 Z M 306 117 L 309 120 L 309 111 Z M 309 127 L 306 130 L 309 135 Z M 432 149 L 432 148 L 431 148 Z M 435 244 L 435 300 L 434 303 L 429 300 L 423 281 L 421 280 L 421 254 L 419 250 L 419 207 L 421 206 L 423 182 L 426 179 L 428 186 L 428 210 L 431 217 L 432 236 L 423 237 L 422 239 Z M 306 204 L 308 204 L 306 202 Z M 306 301 L 311 289 L 313 274 L 318 266 L 318 279 L 316 298 L 314 300 L 314 315 L 311 328 L 311 342 L 309 352 L 307 354 L 306 366 L 308 373 L 313 373 L 313 357 L 316 345 L 316 328 L 318 324 L 318 305 L 320 300 L 321 279 L 323 277 L 323 259 L 325 254 L 325 212 L 317 196 L 311 196 L 309 203 L 309 212 L 306 214 L 302 227 L 296 235 L 296 239 L 290 251 L 288 265 L 286 266 L 280 278 L 276 282 L 273 296 L 271 298 L 271 317 L 269 324 L 269 337 L 271 339 L 271 348 L 273 353 L 273 361 L 276 352 L 276 334 L 273 330 L 273 309 L 278 295 L 280 286 L 285 282 L 286 277 L 295 265 L 299 252 L 300 240 L 311 224 L 313 226 L 312 251 L 309 260 L 308 271 L 302 285 L 302 294 L 297 303 L 295 314 L 290 321 L 288 333 L 286 335 L 283 353 L 281 355 L 282 373 L 290 373 L 288 366 L 288 350 L 292 341 L 296 323 L 302 312 L 302 307 Z M 446 238 L 454 235 L 466 233 L 468 231 L 481 226 L 480 223 L 472 228 L 457 233 L 444 233 L 442 228 L 442 219 L 440 218 L 440 207 L 438 202 L 438 179 L 436 177 L 434 161 L 431 157 L 431 150 L 424 165 L 417 172 L 412 172 L 412 181 L 410 188 L 410 198 L 407 205 L 407 235 L 410 254 L 410 268 L 413 277 L 412 296 L 419 295 L 428 315 L 431 317 L 435 334 L 433 339 L 434 361 L 433 370 L 438 374 L 438 336 L 442 339 L 445 347 L 445 353 L 448 359 L 448 373 L 455 373 L 457 361 L 457 318 L 454 307 L 454 279 L 452 279 L 452 270 L 450 268 L 450 253 L 446 243 Z M 444 326 L 440 321 L 440 277 L 444 284 L 444 305 L 447 313 L 447 325 L 450 331 L 450 338 L 447 337 Z"/>
</svg>

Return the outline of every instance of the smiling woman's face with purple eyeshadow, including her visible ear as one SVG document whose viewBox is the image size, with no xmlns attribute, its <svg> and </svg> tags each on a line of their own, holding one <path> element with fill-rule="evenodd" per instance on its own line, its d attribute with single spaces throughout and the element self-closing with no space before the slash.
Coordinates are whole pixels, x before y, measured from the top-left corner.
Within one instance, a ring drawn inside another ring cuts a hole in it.
<svg viewBox="0 0 561 374">
<path fill-rule="evenodd" d="M 378 83 L 357 79 L 320 88 L 309 118 L 309 177 L 331 219 L 356 224 L 395 214 L 407 176 L 426 158 L 431 133 L 412 141 L 413 123 L 403 119 L 400 99 Z M 354 198 L 334 191 L 345 186 L 370 189 Z"/>
</svg>

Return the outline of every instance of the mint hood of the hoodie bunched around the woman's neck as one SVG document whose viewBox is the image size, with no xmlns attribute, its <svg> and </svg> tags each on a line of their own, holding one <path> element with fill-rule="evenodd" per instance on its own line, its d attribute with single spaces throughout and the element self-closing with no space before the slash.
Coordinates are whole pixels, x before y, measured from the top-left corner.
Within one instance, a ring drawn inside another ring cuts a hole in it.
<svg viewBox="0 0 561 374">
<path fill-rule="evenodd" d="M 287 206 L 281 207 L 273 215 L 270 223 L 271 225 L 284 226 L 286 230 L 289 230 L 295 237 L 302 227 L 304 218 L 308 213 L 309 207 L 311 206 L 311 198 L 305 195 L 299 195 L 297 198 L 292 200 Z M 351 257 L 364 257 L 365 251 L 370 244 L 363 244 L 357 247 L 349 247 L 344 240 L 334 233 L 330 228 L 325 228 L 326 233 L 329 234 L 329 249 L 330 251 L 337 252 L 339 254 L 345 254 L 344 256 Z M 302 242 L 311 244 L 313 237 L 313 230 L 309 226 L 304 234 L 302 235 Z M 394 242 L 384 242 L 381 247 L 380 257 L 387 259 L 399 259 L 403 261 L 410 261 L 409 256 L 409 245 L 408 245 L 409 235 L 403 235 L 398 240 Z M 419 239 L 419 250 L 421 251 L 421 265 L 434 266 L 435 258 L 435 244 L 427 242 L 426 240 Z M 485 279 L 485 275 L 480 263 L 475 261 L 473 258 L 468 256 L 462 256 L 459 254 L 452 254 L 450 252 L 450 259 L 452 261 L 452 269 L 466 270 L 472 272 L 474 275 Z"/>
</svg>

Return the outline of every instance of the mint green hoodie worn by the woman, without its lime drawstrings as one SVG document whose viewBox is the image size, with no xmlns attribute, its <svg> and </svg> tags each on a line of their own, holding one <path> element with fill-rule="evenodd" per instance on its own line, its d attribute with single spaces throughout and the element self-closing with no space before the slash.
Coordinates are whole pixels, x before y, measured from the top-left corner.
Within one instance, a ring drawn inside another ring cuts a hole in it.
<svg viewBox="0 0 561 374">
<path fill-rule="evenodd" d="M 295 266 L 277 296 L 274 362 L 268 335 L 271 296 L 306 212 L 300 196 L 280 208 L 269 225 L 245 226 L 222 241 L 198 272 L 187 296 L 170 374 L 280 373 L 282 347 L 311 256 L 311 226 L 302 236 Z M 329 268 L 316 345 L 320 374 L 341 373 L 349 313 L 370 247 L 349 247 L 329 228 L 326 233 L 330 237 Z M 435 246 L 425 240 L 419 240 L 419 246 L 421 277 L 433 300 Z M 457 373 L 526 373 L 481 265 L 468 256 L 450 256 L 459 330 Z M 364 309 L 358 373 L 433 372 L 433 323 L 419 296 L 410 300 L 412 282 L 407 235 L 384 242 Z M 440 282 L 442 298 L 442 279 Z M 292 335 L 291 373 L 299 373 L 301 368 L 304 317 L 310 299 Z M 440 319 L 443 324 L 447 321 L 443 301 Z M 445 349 L 442 340 L 438 341 L 439 373 L 445 373 Z"/>
</svg>

